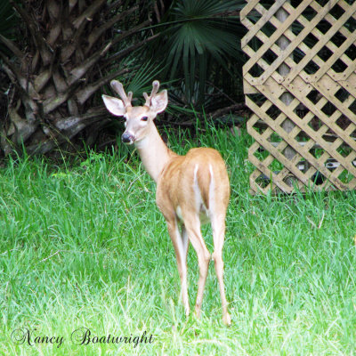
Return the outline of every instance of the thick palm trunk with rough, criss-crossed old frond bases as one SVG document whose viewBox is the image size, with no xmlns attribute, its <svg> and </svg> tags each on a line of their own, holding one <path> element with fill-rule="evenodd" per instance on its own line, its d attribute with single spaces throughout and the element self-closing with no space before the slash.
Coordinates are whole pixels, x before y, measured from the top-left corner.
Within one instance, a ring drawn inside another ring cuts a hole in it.
<svg viewBox="0 0 356 356">
<path fill-rule="evenodd" d="M 106 124 L 107 114 L 101 104 L 95 106 L 94 94 L 133 70 L 125 58 L 155 37 L 142 36 L 142 28 L 150 24 L 145 12 L 138 16 L 142 1 L 123 3 L 11 3 L 21 26 L 17 40 L 0 33 L 0 59 L 11 80 L 8 114 L 0 116 L 5 155 L 22 146 L 28 153 L 46 153 L 70 145 L 79 133 L 90 141 Z"/>
</svg>

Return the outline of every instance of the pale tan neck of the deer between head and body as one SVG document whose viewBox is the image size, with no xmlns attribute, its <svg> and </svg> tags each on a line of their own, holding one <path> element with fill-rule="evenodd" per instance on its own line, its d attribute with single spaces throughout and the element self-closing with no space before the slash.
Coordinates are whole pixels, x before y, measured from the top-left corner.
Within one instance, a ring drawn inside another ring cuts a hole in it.
<svg viewBox="0 0 356 356">
<path fill-rule="evenodd" d="M 135 146 L 139 151 L 143 166 L 155 182 L 158 181 L 158 176 L 166 164 L 178 156 L 163 142 L 156 125 L 151 125 L 150 134 L 141 141 L 135 142 Z"/>
</svg>

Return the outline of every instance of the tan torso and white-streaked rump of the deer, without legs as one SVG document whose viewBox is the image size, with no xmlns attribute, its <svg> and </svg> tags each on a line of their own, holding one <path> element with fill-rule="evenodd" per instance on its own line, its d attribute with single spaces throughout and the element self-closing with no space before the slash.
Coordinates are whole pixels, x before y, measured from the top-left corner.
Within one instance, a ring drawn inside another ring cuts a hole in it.
<svg viewBox="0 0 356 356">
<path fill-rule="evenodd" d="M 182 218 L 182 211 L 206 216 L 213 209 L 226 212 L 229 198 L 226 166 L 214 149 L 191 149 L 172 158 L 158 178 L 157 204 L 166 218 Z"/>
</svg>

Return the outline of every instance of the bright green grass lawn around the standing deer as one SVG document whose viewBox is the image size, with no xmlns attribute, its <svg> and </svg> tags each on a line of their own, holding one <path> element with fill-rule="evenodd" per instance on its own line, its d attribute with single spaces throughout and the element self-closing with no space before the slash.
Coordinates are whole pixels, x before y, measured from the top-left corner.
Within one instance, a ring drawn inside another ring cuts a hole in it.
<svg viewBox="0 0 356 356">
<path fill-rule="evenodd" d="M 231 328 L 221 320 L 213 265 L 202 318 L 186 320 L 155 185 L 120 146 L 70 168 L 26 158 L 1 168 L 0 354 L 356 354 L 355 191 L 250 196 L 246 133 L 176 137 L 174 150 L 201 143 L 220 150 L 229 166 L 223 255 Z M 210 228 L 203 231 L 212 251 Z M 193 306 L 192 248 L 188 262 Z M 59 348 L 15 344 L 19 328 L 32 332 L 31 342 L 64 341 Z M 77 345 L 70 337 L 78 328 L 132 343 Z M 135 346 L 144 331 L 153 342 Z"/>
</svg>

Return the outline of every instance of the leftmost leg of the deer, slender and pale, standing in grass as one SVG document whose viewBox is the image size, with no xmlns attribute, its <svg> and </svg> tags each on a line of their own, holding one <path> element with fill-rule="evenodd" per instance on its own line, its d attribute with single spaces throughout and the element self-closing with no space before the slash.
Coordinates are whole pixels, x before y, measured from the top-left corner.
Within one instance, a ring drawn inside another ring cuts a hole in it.
<svg viewBox="0 0 356 356">
<path fill-rule="evenodd" d="M 179 277 L 181 278 L 182 302 L 184 305 L 185 314 L 188 316 L 190 313 L 187 285 L 187 253 L 189 244 L 188 235 L 185 231 L 184 226 L 182 226 L 181 234 L 181 232 L 179 231 L 177 220 L 175 218 L 170 221 L 167 221 L 167 228 L 174 246 Z"/>
</svg>

